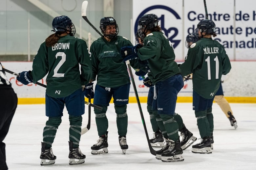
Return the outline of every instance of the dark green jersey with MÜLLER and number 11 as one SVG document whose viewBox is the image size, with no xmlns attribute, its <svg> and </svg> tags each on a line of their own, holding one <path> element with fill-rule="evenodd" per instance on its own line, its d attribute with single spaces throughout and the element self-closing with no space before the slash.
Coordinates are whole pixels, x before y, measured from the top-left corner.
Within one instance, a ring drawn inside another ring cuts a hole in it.
<svg viewBox="0 0 256 170">
<path fill-rule="evenodd" d="M 201 38 L 193 43 L 180 65 L 182 76 L 193 73 L 193 90 L 206 99 L 215 96 L 231 64 L 226 51 L 219 42 L 211 38 Z"/>
</svg>

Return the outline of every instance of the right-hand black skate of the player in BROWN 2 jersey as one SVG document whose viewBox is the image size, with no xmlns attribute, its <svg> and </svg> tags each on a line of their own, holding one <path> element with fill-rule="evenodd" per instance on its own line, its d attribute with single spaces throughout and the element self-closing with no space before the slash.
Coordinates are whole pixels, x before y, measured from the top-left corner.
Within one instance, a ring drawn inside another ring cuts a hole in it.
<svg viewBox="0 0 256 170">
<path fill-rule="evenodd" d="M 85 155 L 81 152 L 79 147 L 73 147 L 73 142 L 69 141 L 69 164 L 84 163 Z"/>
</svg>

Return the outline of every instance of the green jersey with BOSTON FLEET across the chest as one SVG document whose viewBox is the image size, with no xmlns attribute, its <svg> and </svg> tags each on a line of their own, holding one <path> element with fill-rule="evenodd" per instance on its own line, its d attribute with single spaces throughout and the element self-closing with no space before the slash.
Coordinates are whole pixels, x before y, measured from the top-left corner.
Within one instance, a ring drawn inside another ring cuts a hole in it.
<svg viewBox="0 0 256 170">
<path fill-rule="evenodd" d="M 91 60 L 93 75 L 92 80 L 103 87 L 119 87 L 130 83 L 126 63 L 120 56 L 120 49 L 123 46 L 133 46 L 132 43 L 124 37 L 117 36 L 110 42 L 103 37 L 95 40 L 91 47 Z M 134 69 L 142 69 L 138 59 L 130 60 Z"/>
</svg>

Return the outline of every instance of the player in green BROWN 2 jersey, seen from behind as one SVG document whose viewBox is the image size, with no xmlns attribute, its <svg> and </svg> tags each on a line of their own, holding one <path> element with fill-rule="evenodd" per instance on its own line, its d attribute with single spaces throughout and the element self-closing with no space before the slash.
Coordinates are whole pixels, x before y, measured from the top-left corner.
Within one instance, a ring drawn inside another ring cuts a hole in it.
<svg viewBox="0 0 256 170">
<path fill-rule="evenodd" d="M 85 87 L 92 76 L 92 64 L 86 42 L 75 36 L 75 25 L 67 16 L 58 16 L 52 22 L 54 34 L 50 35 L 33 60 L 33 70 L 17 77 L 27 85 L 36 83 L 48 74 L 45 96 L 46 126 L 43 130 L 41 165 L 55 163 L 52 144 L 61 123 L 63 109 L 69 113 L 69 164 L 84 163 L 85 155 L 79 149 L 82 116 L 85 111 L 84 95 L 93 95 Z M 79 64 L 81 69 L 79 69 Z M 81 74 L 80 74 L 81 71 Z M 83 88 L 85 90 L 83 92 Z"/>
</svg>

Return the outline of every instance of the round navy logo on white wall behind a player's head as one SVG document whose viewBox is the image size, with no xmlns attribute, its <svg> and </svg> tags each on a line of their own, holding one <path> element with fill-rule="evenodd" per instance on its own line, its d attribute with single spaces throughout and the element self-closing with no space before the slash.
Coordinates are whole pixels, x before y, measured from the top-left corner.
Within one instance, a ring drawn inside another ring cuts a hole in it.
<svg viewBox="0 0 256 170">
<path fill-rule="evenodd" d="M 158 12 L 155 12 L 156 9 Z M 166 14 L 165 11 L 168 11 L 167 12 L 168 14 Z M 157 15 L 157 17 L 159 19 L 158 25 L 161 26 L 161 29 L 164 32 L 165 36 L 168 37 L 170 42 L 172 42 L 173 48 L 177 47 L 179 45 L 179 43 L 181 42 L 181 40 L 175 39 L 175 37 L 179 33 L 179 30 L 172 23 L 174 23 L 173 22 L 174 20 L 181 20 L 181 17 L 179 16 L 179 14 L 176 11 L 174 11 L 170 7 L 167 7 L 164 5 L 154 5 L 154 6 L 144 9 L 139 14 L 139 16 L 137 17 L 137 19 L 135 21 L 135 26 L 134 26 L 135 34 L 134 35 L 136 35 L 136 32 L 137 32 L 139 18 L 142 17 L 144 14 L 150 14 L 150 13 Z"/>
</svg>

